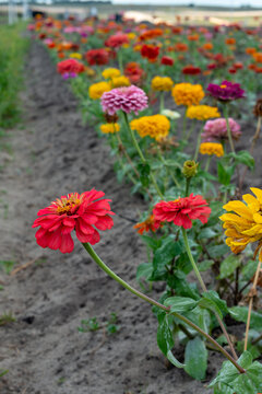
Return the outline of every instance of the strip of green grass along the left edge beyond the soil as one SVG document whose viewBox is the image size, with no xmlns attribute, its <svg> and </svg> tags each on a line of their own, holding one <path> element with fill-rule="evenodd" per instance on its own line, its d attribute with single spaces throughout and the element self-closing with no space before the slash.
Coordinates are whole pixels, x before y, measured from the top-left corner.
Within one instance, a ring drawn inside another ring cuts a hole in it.
<svg viewBox="0 0 262 394">
<path fill-rule="evenodd" d="M 0 128 L 13 127 L 20 120 L 20 90 L 28 38 L 22 36 L 26 25 L 0 25 Z"/>
</svg>

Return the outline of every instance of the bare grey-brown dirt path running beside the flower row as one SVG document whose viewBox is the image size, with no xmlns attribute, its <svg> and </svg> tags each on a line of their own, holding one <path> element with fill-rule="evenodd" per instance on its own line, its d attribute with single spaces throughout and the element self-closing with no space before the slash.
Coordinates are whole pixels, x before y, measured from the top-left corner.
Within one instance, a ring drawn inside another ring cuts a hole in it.
<svg viewBox="0 0 262 394">
<path fill-rule="evenodd" d="M 114 211 L 132 219 L 143 201 L 117 183 L 105 141 L 82 126 L 75 99 L 37 44 L 26 63 L 23 102 L 25 127 L 10 131 L 13 154 L 0 152 L 1 259 L 28 263 L 14 276 L 0 273 L 0 314 L 12 311 L 16 318 L 0 326 L 0 370 L 9 370 L 0 393 L 211 393 L 165 367 L 151 308 L 107 278 L 79 243 L 69 256 L 36 245 L 31 225 L 37 210 L 62 194 L 96 187 L 112 199 Z M 145 254 L 129 221 L 117 217 L 96 251 L 138 286 L 135 269 Z M 97 316 L 105 324 L 111 312 L 118 334 L 79 333 L 81 320 Z M 219 363 L 212 355 L 209 380 Z"/>
</svg>

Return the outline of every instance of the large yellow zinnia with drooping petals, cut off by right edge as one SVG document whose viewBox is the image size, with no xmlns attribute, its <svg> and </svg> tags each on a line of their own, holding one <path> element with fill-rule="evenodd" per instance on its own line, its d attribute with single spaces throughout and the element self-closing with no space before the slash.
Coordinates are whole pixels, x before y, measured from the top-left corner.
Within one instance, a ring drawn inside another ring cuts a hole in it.
<svg viewBox="0 0 262 394">
<path fill-rule="evenodd" d="M 249 243 L 259 241 L 255 255 L 260 251 L 259 258 L 262 259 L 262 190 L 251 187 L 250 194 L 243 195 L 246 202 L 235 200 L 227 202 L 223 208 L 228 212 L 224 213 L 219 219 L 224 222 L 223 228 L 226 229 L 226 244 L 233 253 L 242 252 Z"/>
</svg>

